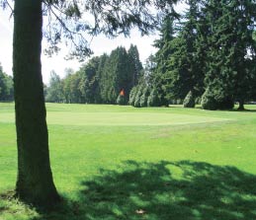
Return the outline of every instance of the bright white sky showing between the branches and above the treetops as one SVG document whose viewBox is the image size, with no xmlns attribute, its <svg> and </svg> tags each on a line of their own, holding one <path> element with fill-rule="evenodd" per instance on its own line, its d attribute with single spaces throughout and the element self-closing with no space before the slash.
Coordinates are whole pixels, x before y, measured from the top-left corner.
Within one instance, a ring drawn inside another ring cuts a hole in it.
<svg viewBox="0 0 256 220">
<path fill-rule="evenodd" d="M 181 12 L 184 8 L 184 4 L 179 4 L 176 10 Z M 13 20 L 10 19 L 10 12 L 7 10 L 0 11 L 0 63 L 3 66 L 4 72 L 9 75 L 12 75 L 12 36 Z M 128 49 L 129 45 L 132 43 L 137 46 L 140 60 L 144 63 L 150 54 L 156 52 L 156 48 L 152 46 L 156 38 L 158 38 L 157 34 L 141 37 L 136 30 L 132 30 L 130 37 L 121 36 L 112 39 L 104 36 L 94 37 L 91 41 L 91 48 L 94 51 L 94 55 L 101 55 L 104 52 L 109 54 L 118 46 L 125 46 Z M 42 55 L 42 73 L 43 82 L 45 84 L 49 81 L 51 70 L 54 70 L 60 77 L 64 77 L 66 68 L 71 68 L 76 71 L 82 65 L 82 63 L 76 60 L 65 60 L 64 56 L 66 54 L 67 49 L 63 47 L 58 54 L 52 57 Z"/>
</svg>

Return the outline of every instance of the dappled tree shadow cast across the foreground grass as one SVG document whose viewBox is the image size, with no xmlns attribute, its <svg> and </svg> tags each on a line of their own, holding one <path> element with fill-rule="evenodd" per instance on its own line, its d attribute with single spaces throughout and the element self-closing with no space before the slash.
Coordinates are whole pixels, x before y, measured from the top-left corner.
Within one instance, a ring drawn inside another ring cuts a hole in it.
<svg viewBox="0 0 256 220">
<path fill-rule="evenodd" d="M 77 201 L 43 219 L 253 220 L 256 176 L 190 161 L 137 163 L 82 182 Z"/>
</svg>

